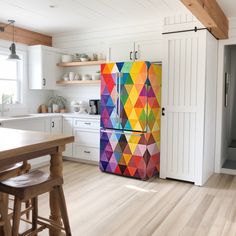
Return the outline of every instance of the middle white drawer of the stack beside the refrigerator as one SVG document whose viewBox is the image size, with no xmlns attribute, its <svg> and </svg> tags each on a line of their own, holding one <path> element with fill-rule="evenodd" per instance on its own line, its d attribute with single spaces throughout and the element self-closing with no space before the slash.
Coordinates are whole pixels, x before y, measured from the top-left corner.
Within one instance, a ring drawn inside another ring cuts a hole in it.
<svg viewBox="0 0 236 236">
<path fill-rule="evenodd" d="M 100 134 L 99 132 L 83 131 L 80 129 L 74 129 L 75 142 L 83 146 L 100 146 Z"/>
</svg>

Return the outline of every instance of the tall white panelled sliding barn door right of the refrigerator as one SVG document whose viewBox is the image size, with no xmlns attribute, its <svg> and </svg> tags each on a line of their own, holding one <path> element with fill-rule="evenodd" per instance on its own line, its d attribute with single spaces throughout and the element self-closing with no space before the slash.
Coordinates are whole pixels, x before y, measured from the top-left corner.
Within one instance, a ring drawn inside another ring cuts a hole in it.
<svg viewBox="0 0 236 236">
<path fill-rule="evenodd" d="M 161 178 L 202 176 L 206 32 L 164 35 Z"/>
</svg>

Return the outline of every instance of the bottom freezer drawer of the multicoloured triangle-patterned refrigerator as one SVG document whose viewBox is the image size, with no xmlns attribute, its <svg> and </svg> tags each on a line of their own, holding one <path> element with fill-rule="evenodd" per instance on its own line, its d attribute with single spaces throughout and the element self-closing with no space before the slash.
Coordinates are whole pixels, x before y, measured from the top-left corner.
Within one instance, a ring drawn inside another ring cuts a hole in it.
<svg viewBox="0 0 236 236">
<path fill-rule="evenodd" d="M 159 158 L 151 134 L 101 130 L 99 166 L 104 172 L 148 179 L 157 175 Z"/>
</svg>

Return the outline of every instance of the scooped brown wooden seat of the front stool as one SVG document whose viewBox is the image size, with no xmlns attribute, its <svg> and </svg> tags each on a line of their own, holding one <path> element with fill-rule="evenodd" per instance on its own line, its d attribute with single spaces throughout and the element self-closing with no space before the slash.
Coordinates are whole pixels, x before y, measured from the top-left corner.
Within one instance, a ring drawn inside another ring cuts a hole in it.
<svg viewBox="0 0 236 236">
<path fill-rule="evenodd" d="M 50 192 L 54 186 L 63 184 L 61 177 L 51 177 L 49 174 L 33 170 L 27 174 L 0 182 L 0 192 L 17 196 L 21 200 L 34 198 L 45 192 Z"/>
</svg>

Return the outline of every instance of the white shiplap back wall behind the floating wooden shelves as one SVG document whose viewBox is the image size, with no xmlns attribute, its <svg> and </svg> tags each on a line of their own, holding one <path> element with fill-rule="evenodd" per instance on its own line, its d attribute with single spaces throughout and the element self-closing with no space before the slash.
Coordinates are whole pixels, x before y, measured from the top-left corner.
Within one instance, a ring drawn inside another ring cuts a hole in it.
<svg viewBox="0 0 236 236">
<path fill-rule="evenodd" d="M 93 30 L 84 30 L 80 32 L 71 32 L 58 34 L 53 37 L 53 46 L 63 49 L 68 53 L 86 53 L 92 56 L 97 53 L 98 56 L 108 58 L 108 49 L 112 44 L 131 43 L 147 40 L 162 40 L 163 21 L 151 22 L 150 24 L 99 28 Z M 82 73 L 93 73 L 99 70 L 99 66 L 70 68 L 67 72 L 79 71 Z M 100 98 L 100 86 L 73 86 L 59 88 L 55 93 L 65 96 L 68 101 L 85 100 Z"/>
</svg>

